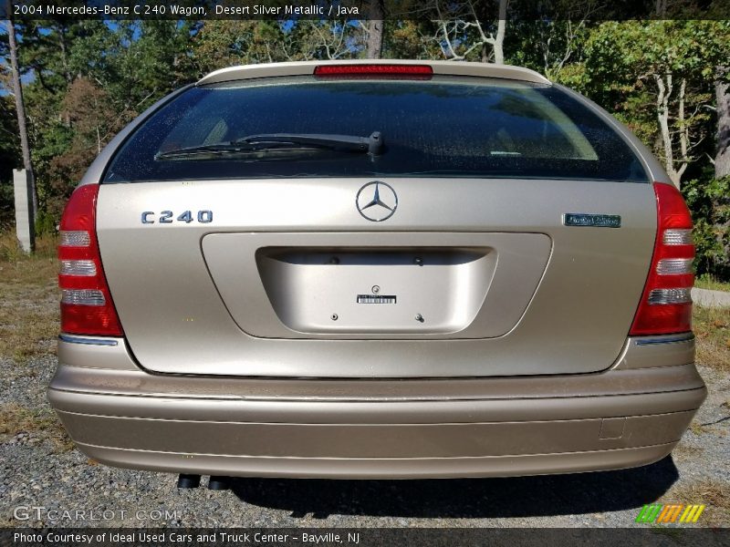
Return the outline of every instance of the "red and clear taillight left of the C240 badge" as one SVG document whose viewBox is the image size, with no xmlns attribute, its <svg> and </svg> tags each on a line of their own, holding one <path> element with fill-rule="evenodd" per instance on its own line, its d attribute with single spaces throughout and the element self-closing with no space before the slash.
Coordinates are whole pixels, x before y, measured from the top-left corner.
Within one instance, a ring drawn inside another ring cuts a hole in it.
<svg viewBox="0 0 730 547">
<path fill-rule="evenodd" d="M 121 336 L 119 316 L 104 277 L 96 231 L 99 184 L 79 186 L 61 217 L 61 331 L 74 335 Z"/>
</svg>

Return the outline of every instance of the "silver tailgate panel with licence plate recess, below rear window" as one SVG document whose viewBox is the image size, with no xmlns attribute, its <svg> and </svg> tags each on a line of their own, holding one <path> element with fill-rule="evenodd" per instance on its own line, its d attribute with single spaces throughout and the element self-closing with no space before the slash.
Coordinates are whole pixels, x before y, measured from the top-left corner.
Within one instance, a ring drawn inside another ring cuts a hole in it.
<svg viewBox="0 0 730 547">
<path fill-rule="evenodd" d="M 387 178 L 397 212 L 370 222 L 355 206 L 370 181 L 101 185 L 100 253 L 140 365 L 489 377 L 594 372 L 619 356 L 652 257 L 650 184 Z M 193 222 L 141 223 L 163 211 Z M 620 227 L 566 226 L 566 213 Z"/>
</svg>

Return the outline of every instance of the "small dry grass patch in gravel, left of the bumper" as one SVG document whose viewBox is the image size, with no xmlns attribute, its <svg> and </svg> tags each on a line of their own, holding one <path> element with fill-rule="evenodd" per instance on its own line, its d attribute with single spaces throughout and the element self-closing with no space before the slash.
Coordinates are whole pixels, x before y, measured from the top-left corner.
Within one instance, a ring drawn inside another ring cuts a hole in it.
<svg viewBox="0 0 730 547">
<path fill-rule="evenodd" d="M 61 427 L 56 414 L 49 408 L 26 408 L 17 403 L 0 405 L 0 441 L 16 437 L 20 433 L 33 434 L 41 440 L 50 440 L 57 449 L 73 449 L 73 442 Z"/>
</svg>

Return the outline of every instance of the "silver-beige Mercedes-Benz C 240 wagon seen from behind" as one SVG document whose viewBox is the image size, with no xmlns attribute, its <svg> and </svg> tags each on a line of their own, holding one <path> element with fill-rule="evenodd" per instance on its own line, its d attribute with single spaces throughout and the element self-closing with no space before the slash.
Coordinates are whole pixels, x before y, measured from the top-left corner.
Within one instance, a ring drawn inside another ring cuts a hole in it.
<svg viewBox="0 0 730 547">
<path fill-rule="evenodd" d="M 61 222 L 78 448 L 190 475 L 610 470 L 704 400 L 692 222 L 651 153 L 524 68 L 225 68 L 163 98 Z"/>
</svg>

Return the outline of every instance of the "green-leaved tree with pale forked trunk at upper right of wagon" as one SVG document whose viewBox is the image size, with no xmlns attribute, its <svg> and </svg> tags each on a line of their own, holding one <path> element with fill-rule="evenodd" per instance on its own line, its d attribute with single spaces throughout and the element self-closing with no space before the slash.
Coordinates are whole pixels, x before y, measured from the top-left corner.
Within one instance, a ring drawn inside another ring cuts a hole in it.
<svg viewBox="0 0 730 547">
<path fill-rule="evenodd" d="M 587 46 L 594 95 L 655 143 L 677 188 L 708 133 L 712 65 L 704 36 L 712 29 L 705 23 L 605 22 Z"/>
</svg>

